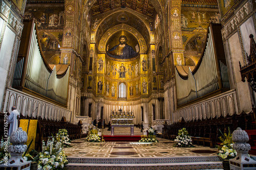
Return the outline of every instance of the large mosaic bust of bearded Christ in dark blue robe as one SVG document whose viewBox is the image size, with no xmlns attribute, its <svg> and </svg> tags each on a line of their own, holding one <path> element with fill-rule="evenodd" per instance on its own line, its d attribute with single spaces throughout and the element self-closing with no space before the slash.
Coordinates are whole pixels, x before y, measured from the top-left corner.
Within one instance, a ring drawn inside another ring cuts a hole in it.
<svg viewBox="0 0 256 170">
<path fill-rule="evenodd" d="M 127 38 L 124 35 L 119 37 L 119 44 L 115 45 L 109 50 L 109 45 L 106 47 L 106 54 L 110 57 L 116 59 L 130 59 L 138 56 L 139 54 L 139 45 L 135 46 L 136 51 L 134 51 L 133 47 L 127 45 Z"/>
</svg>

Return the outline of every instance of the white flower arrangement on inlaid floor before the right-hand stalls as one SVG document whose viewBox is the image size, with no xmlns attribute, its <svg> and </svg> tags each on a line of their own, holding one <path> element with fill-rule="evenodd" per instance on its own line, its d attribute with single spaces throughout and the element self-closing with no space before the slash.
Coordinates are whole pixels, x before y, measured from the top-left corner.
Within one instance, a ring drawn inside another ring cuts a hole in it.
<svg viewBox="0 0 256 170">
<path fill-rule="evenodd" d="M 188 135 L 186 128 L 182 128 L 178 132 L 178 136 L 174 139 L 177 143 L 174 145 L 175 147 L 194 147 L 192 145 L 192 139 Z"/>
</svg>

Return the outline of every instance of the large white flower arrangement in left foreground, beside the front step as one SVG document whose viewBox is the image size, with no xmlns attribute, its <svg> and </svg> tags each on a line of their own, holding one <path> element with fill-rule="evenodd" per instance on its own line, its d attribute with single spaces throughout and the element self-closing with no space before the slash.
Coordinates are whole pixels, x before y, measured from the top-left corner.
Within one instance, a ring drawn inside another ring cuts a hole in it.
<svg viewBox="0 0 256 170">
<path fill-rule="evenodd" d="M 48 139 L 47 144 L 42 141 L 42 151 L 38 155 L 37 169 L 63 169 L 64 165 L 68 164 L 61 141 L 55 141 L 54 138 Z"/>
</svg>

